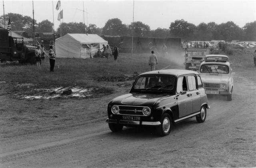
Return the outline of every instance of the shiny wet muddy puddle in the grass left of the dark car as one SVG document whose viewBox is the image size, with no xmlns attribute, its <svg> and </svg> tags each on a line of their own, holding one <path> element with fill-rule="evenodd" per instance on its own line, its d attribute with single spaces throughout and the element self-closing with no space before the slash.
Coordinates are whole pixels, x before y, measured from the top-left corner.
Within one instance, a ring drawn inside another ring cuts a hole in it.
<svg viewBox="0 0 256 168">
<path fill-rule="evenodd" d="M 33 85 L 30 84 L 19 84 L 19 86 L 26 86 L 30 87 Z M 92 90 L 94 88 L 81 88 L 81 87 L 59 87 L 59 88 L 36 88 L 33 89 L 33 91 L 36 91 L 37 93 L 31 95 L 31 94 L 23 94 L 18 95 L 18 98 L 20 99 L 27 99 L 27 100 L 35 100 L 35 99 L 53 99 L 53 98 L 85 98 L 92 96 Z M 72 92 L 69 92 L 69 94 L 64 94 L 63 91 L 72 90 Z"/>
</svg>

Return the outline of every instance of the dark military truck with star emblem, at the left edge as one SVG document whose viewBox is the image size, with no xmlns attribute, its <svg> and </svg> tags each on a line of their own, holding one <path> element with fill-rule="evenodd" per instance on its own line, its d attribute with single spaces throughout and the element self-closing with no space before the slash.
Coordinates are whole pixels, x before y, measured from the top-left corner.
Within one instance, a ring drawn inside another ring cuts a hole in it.
<svg viewBox="0 0 256 168">
<path fill-rule="evenodd" d="M 23 38 L 8 36 L 8 30 L 0 28 L 0 62 L 19 61 L 36 64 L 36 47 L 24 44 Z"/>
</svg>

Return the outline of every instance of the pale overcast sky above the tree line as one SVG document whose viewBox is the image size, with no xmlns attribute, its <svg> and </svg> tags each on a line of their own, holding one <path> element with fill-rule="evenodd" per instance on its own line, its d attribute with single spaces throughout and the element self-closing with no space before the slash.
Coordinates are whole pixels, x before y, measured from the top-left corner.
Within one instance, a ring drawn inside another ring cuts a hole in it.
<svg viewBox="0 0 256 168">
<path fill-rule="evenodd" d="M 59 26 L 58 12 L 54 6 L 55 29 Z M 1 1 L 1 3 L 3 3 Z M 63 22 L 83 22 L 83 1 L 61 1 Z M 133 1 L 99 1 L 84 0 L 85 24 L 96 24 L 102 28 L 108 19 L 119 18 L 123 24 L 132 22 Z M 19 13 L 33 18 L 32 1 L 4 0 L 4 12 Z M 0 13 L 3 15 L 3 8 Z M 52 1 L 34 0 L 34 18 L 37 22 L 50 20 L 53 22 Z M 170 23 L 177 19 L 184 19 L 196 26 L 201 22 L 216 22 L 221 24 L 233 21 L 240 27 L 256 20 L 256 0 L 164 0 L 164 1 L 134 1 L 134 22 L 141 21 L 148 24 L 151 30 L 158 27 L 169 28 Z"/>
</svg>

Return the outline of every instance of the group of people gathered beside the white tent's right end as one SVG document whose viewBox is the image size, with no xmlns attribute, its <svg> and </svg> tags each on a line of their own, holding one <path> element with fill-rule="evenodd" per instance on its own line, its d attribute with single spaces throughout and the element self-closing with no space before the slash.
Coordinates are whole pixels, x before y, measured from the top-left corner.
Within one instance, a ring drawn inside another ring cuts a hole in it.
<svg viewBox="0 0 256 168">
<path fill-rule="evenodd" d="M 102 52 L 100 50 L 103 50 Z M 119 51 L 117 46 L 114 47 L 114 50 L 112 52 L 110 46 L 107 44 L 106 46 L 103 44 L 103 47 L 101 49 L 98 49 L 97 51 L 97 57 L 106 57 L 107 60 L 109 60 L 109 57 L 112 55 L 114 56 L 114 60 L 117 60 Z"/>
</svg>

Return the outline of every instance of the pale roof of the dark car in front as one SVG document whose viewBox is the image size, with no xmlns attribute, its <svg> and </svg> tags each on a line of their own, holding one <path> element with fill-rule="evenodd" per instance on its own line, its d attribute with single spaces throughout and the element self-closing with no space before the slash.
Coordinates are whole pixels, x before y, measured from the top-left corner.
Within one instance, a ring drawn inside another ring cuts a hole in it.
<svg viewBox="0 0 256 168">
<path fill-rule="evenodd" d="M 178 70 L 178 69 L 167 69 L 167 70 L 154 70 L 149 72 L 144 72 L 139 76 L 144 75 L 173 75 L 173 76 L 180 76 L 186 74 L 196 74 L 199 75 L 198 72 L 192 70 Z"/>
</svg>

